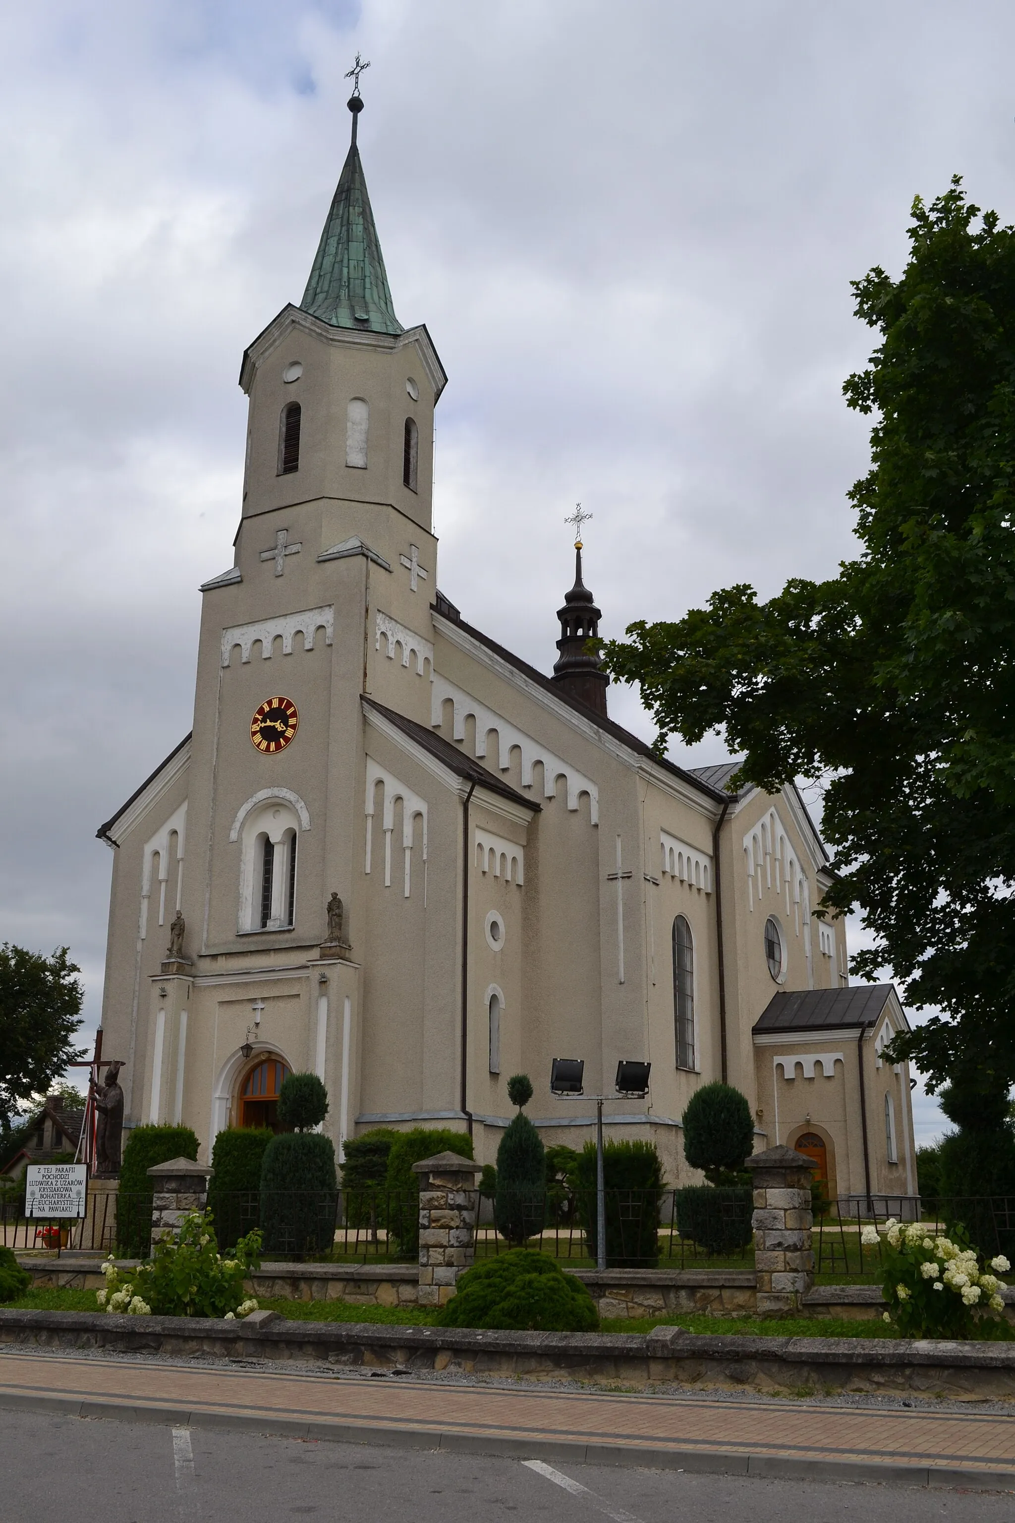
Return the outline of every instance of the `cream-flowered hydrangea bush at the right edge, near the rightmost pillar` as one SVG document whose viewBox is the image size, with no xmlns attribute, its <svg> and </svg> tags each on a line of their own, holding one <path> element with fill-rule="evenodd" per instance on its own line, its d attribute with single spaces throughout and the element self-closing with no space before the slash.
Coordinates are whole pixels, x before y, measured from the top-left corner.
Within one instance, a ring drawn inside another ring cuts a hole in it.
<svg viewBox="0 0 1015 1523">
<path fill-rule="evenodd" d="M 866 1226 L 860 1240 L 881 1243 L 883 1292 L 890 1307 L 884 1320 L 895 1322 L 904 1337 L 974 1337 L 985 1314 L 1004 1311 L 1004 1282 L 997 1276 L 1012 1266 L 1001 1253 L 982 1269 L 974 1247 L 930 1235 L 921 1221 L 904 1224 L 893 1217 L 884 1234 Z"/>
</svg>

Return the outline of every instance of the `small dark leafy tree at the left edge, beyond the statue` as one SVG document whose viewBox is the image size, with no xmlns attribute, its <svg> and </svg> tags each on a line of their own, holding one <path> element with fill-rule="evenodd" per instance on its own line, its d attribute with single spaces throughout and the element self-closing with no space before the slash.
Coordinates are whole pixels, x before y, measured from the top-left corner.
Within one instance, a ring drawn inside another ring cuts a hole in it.
<svg viewBox="0 0 1015 1523">
<path fill-rule="evenodd" d="M 52 956 L 0 946 L 0 1133 L 18 1106 L 44 1095 L 58 1074 L 85 1055 L 72 1046 L 81 1027 L 81 969 L 67 947 Z"/>
</svg>

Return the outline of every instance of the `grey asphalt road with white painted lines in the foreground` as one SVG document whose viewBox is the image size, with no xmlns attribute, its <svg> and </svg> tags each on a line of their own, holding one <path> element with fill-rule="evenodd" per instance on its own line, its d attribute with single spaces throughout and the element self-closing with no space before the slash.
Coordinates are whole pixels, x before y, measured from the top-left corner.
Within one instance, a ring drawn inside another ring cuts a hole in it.
<svg viewBox="0 0 1015 1523">
<path fill-rule="evenodd" d="M 370 1444 L 0 1412 L 3 1523 L 1010 1523 L 1012 1497 L 572 1470 Z"/>
</svg>

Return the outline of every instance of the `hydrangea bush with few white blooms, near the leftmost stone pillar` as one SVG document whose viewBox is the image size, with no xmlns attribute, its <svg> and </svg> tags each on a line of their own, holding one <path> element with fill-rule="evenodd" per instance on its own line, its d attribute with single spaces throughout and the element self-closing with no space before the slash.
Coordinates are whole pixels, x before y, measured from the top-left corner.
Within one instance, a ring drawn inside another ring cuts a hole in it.
<svg viewBox="0 0 1015 1523">
<path fill-rule="evenodd" d="M 102 1266 L 105 1290 L 96 1292 L 105 1311 L 128 1316 L 236 1317 L 257 1311 L 243 1293 L 247 1272 L 260 1264 L 260 1232 L 248 1232 L 222 1258 L 210 1211 L 192 1211 L 180 1223 L 177 1240 L 155 1246 L 148 1264 L 120 1270 L 113 1255 Z"/>
</svg>

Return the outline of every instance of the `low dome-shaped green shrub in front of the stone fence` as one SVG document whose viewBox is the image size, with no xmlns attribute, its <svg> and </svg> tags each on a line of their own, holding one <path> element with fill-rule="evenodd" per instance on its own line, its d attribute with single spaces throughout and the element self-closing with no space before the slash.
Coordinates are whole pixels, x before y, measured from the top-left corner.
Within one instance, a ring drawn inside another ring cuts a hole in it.
<svg viewBox="0 0 1015 1523">
<path fill-rule="evenodd" d="M 458 1295 L 437 1317 L 446 1328 L 517 1328 L 534 1333 L 595 1333 L 595 1301 L 575 1275 L 548 1253 L 511 1249 L 484 1258 L 458 1281 Z"/>
</svg>

